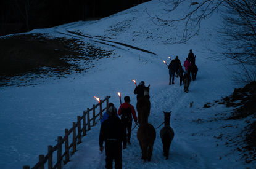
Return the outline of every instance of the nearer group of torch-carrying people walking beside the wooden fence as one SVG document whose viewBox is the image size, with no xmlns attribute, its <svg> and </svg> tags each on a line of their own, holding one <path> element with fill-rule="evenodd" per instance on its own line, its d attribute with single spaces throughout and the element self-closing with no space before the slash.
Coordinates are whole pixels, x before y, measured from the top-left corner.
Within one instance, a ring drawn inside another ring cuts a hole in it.
<svg viewBox="0 0 256 169">
<path fill-rule="evenodd" d="M 135 88 L 134 94 L 138 98 L 144 96 L 144 81 L 141 81 Z M 109 103 L 107 112 L 101 119 L 101 129 L 99 133 L 99 150 L 104 150 L 105 142 L 105 168 L 122 168 L 122 148 L 126 149 L 127 143 L 131 144 L 131 127 L 132 122 L 137 123 L 137 116 L 134 106 L 130 104 L 130 96 L 125 96 L 125 103 L 121 104 L 117 111 L 113 103 Z M 121 116 L 121 119 L 119 118 Z M 123 143 L 123 146 L 122 146 Z"/>
</svg>

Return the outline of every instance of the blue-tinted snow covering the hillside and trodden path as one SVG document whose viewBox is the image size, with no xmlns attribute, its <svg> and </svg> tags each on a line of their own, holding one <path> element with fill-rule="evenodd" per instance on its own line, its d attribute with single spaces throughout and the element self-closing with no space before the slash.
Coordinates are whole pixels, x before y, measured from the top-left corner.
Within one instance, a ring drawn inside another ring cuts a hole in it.
<svg viewBox="0 0 256 169">
<path fill-rule="evenodd" d="M 146 13 L 147 9 L 149 13 L 163 15 L 162 8 L 163 4 L 154 0 L 94 22 L 74 22 L 31 31 L 51 37 L 75 37 L 114 52 L 110 58 L 94 60 L 92 64 L 96 66 L 84 73 L 60 79 L 35 79 L 37 85 L 0 88 L 0 168 L 33 167 L 38 155 L 46 155 L 47 146 L 54 146 L 57 136 L 64 136 L 64 129 L 72 127 L 76 116 L 97 104 L 93 96 L 103 99 L 109 95 L 110 102 L 118 108 L 117 92 L 120 92 L 122 101 L 128 95 L 131 104 L 136 106 L 132 79 L 151 85 L 149 122 L 155 128 L 163 122 L 162 111 L 172 111 L 171 127 L 175 137 L 169 159 L 165 160 L 159 136 L 162 127 L 157 128 L 152 161 L 143 163 L 136 127 L 131 135 L 132 144 L 123 150 L 123 168 L 254 168 L 256 163 L 244 163 L 235 146 L 225 145 L 227 139 L 238 135 L 246 126 L 244 120 L 223 120 L 231 108 L 221 105 L 203 108 L 206 102 L 213 103 L 237 87 L 226 61 L 209 60 L 213 55 L 204 52 L 205 45 L 217 49 L 214 26 L 221 24 L 220 14 L 204 20 L 199 35 L 186 44 L 172 45 L 165 41 L 178 39 L 181 27 L 159 27 Z M 113 42 L 104 41 L 111 44 L 104 45 L 93 41 L 103 42 L 102 39 L 133 45 L 156 55 Z M 178 55 L 183 63 L 189 49 L 197 56 L 199 72 L 196 81 L 191 82 L 189 93 L 184 93 L 179 79 L 175 79 L 175 85 L 168 85 L 168 69 L 163 60 L 168 64 L 168 56 Z M 91 128 L 63 168 L 104 168 L 105 154 L 99 151 L 98 145 L 99 128 L 100 123 Z"/>
</svg>

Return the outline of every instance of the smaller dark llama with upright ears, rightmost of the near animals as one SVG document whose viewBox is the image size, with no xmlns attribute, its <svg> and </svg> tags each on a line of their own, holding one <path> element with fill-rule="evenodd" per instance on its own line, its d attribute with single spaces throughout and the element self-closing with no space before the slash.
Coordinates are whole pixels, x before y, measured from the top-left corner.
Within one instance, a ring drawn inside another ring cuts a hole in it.
<svg viewBox="0 0 256 169">
<path fill-rule="evenodd" d="M 165 114 L 165 126 L 160 130 L 160 137 L 162 138 L 162 143 L 163 143 L 163 156 L 168 159 L 169 156 L 169 149 L 171 145 L 171 141 L 173 140 L 174 137 L 174 132 L 173 128 L 170 127 L 170 116 L 171 116 L 171 111 L 170 112 L 164 112 Z"/>
</svg>

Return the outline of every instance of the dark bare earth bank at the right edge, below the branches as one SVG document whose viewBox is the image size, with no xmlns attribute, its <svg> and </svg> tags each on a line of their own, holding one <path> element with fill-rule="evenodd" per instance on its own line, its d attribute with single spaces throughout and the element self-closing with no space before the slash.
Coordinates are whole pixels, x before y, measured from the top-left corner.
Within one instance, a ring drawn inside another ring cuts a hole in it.
<svg viewBox="0 0 256 169">
<path fill-rule="evenodd" d="M 247 124 L 240 135 L 233 136 L 229 143 L 239 145 L 237 151 L 241 152 L 242 159 L 246 163 L 256 160 L 256 81 L 250 82 L 243 88 L 235 88 L 231 96 L 226 96 L 221 100 L 215 101 L 227 107 L 234 107 L 234 111 L 226 120 L 245 119 Z M 215 103 L 205 103 L 204 108 L 209 108 Z M 236 138 L 241 138 L 237 139 Z M 240 143 L 241 140 L 243 143 Z M 230 146 L 227 143 L 227 146 Z M 245 146 L 244 146 L 245 145 Z"/>
</svg>

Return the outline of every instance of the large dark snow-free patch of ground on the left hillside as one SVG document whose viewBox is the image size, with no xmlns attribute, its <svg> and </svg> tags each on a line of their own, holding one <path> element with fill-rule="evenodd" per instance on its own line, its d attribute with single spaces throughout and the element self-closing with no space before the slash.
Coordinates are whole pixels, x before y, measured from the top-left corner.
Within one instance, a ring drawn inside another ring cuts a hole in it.
<svg viewBox="0 0 256 169">
<path fill-rule="evenodd" d="M 6 86 L 20 85 L 21 81 L 28 85 L 33 79 L 80 73 L 94 67 L 92 60 L 109 58 L 112 51 L 77 39 L 20 34 L 1 38 L 0 53 L 0 86 Z"/>
</svg>

